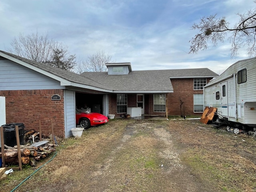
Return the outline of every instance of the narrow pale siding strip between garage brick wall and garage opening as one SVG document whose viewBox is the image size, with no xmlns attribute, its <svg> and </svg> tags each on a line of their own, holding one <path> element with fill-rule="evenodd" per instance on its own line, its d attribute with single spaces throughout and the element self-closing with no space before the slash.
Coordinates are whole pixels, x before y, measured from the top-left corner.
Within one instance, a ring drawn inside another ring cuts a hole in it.
<svg viewBox="0 0 256 192">
<path fill-rule="evenodd" d="M 72 128 L 76 127 L 75 92 L 64 90 L 65 137 L 72 136 Z"/>
</svg>

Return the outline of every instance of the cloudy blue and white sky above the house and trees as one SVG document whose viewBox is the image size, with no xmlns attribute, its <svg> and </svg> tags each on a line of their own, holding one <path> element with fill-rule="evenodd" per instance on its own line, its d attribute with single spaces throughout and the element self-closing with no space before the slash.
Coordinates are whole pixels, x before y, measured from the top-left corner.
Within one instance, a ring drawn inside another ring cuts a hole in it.
<svg viewBox="0 0 256 192">
<path fill-rule="evenodd" d="M 233 26 L 256 7 L 254 0 L 1 0 L 0 50 L 12 40 L 38 32 L 68 46 L 83 61 L 99 51 L 132 70 L 209 68 L 220 74 L 246 49 L 230 58 L 230 43 L 188 54 L 191 30 L 203 16 L 226 16 Z"/>
</svg>

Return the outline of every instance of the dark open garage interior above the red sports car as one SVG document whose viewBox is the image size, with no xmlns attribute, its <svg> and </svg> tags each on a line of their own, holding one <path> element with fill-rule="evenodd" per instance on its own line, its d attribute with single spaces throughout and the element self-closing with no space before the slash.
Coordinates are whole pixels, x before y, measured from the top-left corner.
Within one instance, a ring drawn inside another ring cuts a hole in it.
<svg viewBox="0 0 256 192">
<path fill-rule="evenodd" d="M 86 94 L 76 92 L 76 109 L 81 112 L 89 110 L 103 114 L 103 94 Z"/>
</svg>

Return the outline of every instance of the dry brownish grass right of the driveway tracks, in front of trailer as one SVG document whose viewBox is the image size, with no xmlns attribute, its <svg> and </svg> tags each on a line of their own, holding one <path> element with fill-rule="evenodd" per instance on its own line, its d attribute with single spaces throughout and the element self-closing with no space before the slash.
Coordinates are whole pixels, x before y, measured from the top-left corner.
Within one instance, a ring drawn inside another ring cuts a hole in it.
<svg viewBox="0 0 256 192">
<path fill-rule="evenodd" d="M 178 143 L 186 148 L 182 160 L 192 174 L 220 191 L 256 191 L 255 139 L 192 123 L 192 127 L 176 130 Z"/>
</svg>

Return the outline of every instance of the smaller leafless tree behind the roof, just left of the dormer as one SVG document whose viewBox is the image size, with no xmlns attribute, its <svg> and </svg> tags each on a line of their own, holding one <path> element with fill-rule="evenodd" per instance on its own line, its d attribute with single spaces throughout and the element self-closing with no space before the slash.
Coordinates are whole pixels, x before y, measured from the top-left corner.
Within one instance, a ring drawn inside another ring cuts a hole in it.
<svg viewBox="0 0 256 192">
<path fill-rule="evenodd" d="M 86 61 L 76 66 L 76 72 L 81 74 L 83 72 L 104 72 L 107 71 L 106 63 L 111 63 L 112 56 L 105 54 L 104 51 L 96 52 L 96 54 L 88 56 Z"/>
</svg>

